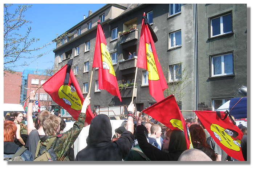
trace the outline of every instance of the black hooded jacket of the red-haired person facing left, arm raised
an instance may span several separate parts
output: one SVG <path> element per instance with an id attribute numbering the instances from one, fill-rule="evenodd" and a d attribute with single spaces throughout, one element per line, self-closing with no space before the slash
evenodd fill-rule
<path id="1" fill-rule="evenodd" d="M 180 154 L 187 149 L 184 132 L 173 130 L 170 137 L 169 153 L 157 149 L 147 142 L 146 134 L 148 133 L 145 126 L 139 125 L 136 128 L 137 140 L 139 147 L 150 158 L 151 161 L 178 161 Z"/>

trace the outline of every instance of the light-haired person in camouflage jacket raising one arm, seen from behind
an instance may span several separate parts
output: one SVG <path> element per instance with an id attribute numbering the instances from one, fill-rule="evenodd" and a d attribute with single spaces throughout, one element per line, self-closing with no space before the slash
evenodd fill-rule
<path id="1" fill-rule="evenodd" d="M 56 139 L 52 143 L 52 147 L 48 150 L 48 153 L 50 154 L 53 161 L 69 161 L 68 158 L 68 150 L 69 147 L 73 145 L 74 141 L 77 139 L 78 135 L 80 134 L 82 128 L 85 126 L 85 118 L 86 118 L 86 109 L 88 105 L 90 104 L 90 97 L 86 97 L 84 100 L 84 103 L 82 105 L 81 113 L 78 116 L 77 121 L 74 123 L 73 127 L 69 129 L 69 131 L 58 134 L 60 130 L 60 118 L 56 115 L 51 115 L 48 118 L 45 118 L 42 122 L 42 126 L 44 128 L 44 132 L 46 134 L 45 137 L 42 137 L 41 139 L 41 146 L 39 149 L 39 154 L 41 155 L 43 150 L 46 149 L 46 145 L 49 142 L 49 139 L 52 137 L 56 137 Z M 55 116 L 55 117 L 54 117 Z M 54 118 L 53 118 L 54 117 Z M 58 127 L 54 127 L 54 134 L 49 134 L 48 130 L 46 129 L 49 126 L 50 121 L 58 121 Z M 87 126 L 88 124 L 86 124 Z M 40 156 L 38 154 L 38 156 Z"/>

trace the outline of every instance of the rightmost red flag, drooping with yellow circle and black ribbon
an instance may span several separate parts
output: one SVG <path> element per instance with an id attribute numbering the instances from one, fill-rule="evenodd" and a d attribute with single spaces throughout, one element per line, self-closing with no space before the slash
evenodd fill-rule
<path id="1" fill-rule="evenodd" d="M 227 115 L 225 112 L 196 110 L 195 113 L 220 148 L 229 156 L 244 161 L 241 152 L 243 132 L 228 117 L 225 117 Z"/>

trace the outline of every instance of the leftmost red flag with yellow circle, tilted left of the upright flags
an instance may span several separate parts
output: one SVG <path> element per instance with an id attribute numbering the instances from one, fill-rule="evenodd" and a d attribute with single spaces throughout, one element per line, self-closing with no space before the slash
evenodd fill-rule
<path id="1" fill-rule="evenodd" d="M 62 106 L 66 111 L 69 112 L 70 115 L 73 116 L 74 119 L 77 120 L 82 109 L 84 97 L 72 69 L 70 69 L 68 84 L 64 84 L 67 69 L 70 69 L 68 64 L 64 65 L 64 67 L 50 77 L 43 84 L 43 88 L 45 92 L 52 97 L 54 102 Z M 88 109 L 86 110 L 85 122 L 90 124 L 93 117 L 94 116 L 89 105 Z"/>

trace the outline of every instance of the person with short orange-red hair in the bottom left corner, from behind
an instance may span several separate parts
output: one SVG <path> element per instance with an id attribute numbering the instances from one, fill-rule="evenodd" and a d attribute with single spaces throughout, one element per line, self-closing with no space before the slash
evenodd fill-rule
<path id="1" fill-rule="evenodd" d="M 4 158 L 11 158 L 20 147 L 14 143 L 17 127 L 14 122 L 6 120 L 4 122 Z M 25 150 L 21 154 L 23 161 L 33 161 L 31 152 Z"/>

